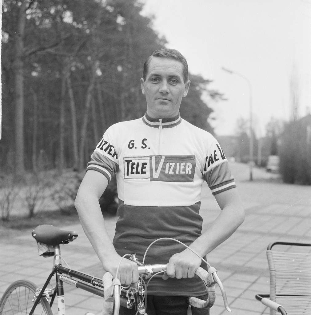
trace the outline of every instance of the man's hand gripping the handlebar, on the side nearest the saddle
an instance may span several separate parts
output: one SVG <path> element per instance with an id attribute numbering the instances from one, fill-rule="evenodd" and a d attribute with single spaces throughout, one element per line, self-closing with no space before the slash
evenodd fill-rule
<path id="1" fill-rule="evenodd" d="M 138 281 L 138 268 L 134 261 L 130 261 L 127 258 L 121 258 L 116 255 L 112 259 L 109 259 L 103 264 L 104 270 L 109 271 L 113 277 L 116 276 L 118 264 L 121 261 L 117 278 L 120 280 L 121 285 L 128 286 L 133 282 Z"/>

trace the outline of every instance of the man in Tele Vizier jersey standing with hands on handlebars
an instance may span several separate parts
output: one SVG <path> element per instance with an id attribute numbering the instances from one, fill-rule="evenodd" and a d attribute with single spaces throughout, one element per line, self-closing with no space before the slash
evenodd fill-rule
<path id="1" fill-rule="evenodd" d="M 112 275 L 121 256 L 136 253 L 141 259 L 147 246 L 160 237 L 175 238 L 205 256 L 244 220 L 221 146 L 210 133 L 180 117 L 181 100 L 189 86 L 187 61 L 182 54 L 175 49 L 153 52 L 141 78 L 146 114 L 108 128 L 88 163 L 75 205 L 103 269 Z M 112 242 L 98 199 L 114 174 L 119 218 Z M 201 235 L 199 208 L 204 180 L 222 211 Z M 187 297 L 202 298 L 205 292 L 202 281 L 194 277 L 201 260 L 172 241 L 155 243 L 146 263 L 148 257 L 153 263 L 169 262 L 163 279 L 153 279 L 148 286 L 148 314 L 186 314 Z M 118 277 L 124 285 L 138 281 L 136 263 L 123 259 Z M 133 311 L 122 308 L 120 314 Z M 192 314 L 209 312 L 193 308 Z"/>

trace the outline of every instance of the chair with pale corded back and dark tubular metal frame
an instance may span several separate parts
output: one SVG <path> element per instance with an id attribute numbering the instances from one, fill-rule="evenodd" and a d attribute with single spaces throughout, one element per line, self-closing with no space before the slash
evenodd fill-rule
<path id="1" fill-rule="evenodd" d="M 256 299 L 270 308 L 270 315 L 311 315 L 311 244 L 271 243 L 267 258 L 270 294 Z"/>

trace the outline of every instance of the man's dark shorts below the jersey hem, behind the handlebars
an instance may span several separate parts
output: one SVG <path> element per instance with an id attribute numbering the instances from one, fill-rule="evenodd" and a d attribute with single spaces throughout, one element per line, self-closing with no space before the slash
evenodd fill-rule
<path id="1" fill-rule="evenodd" d="M 206 300 L 207 295 L 198 296 L 198 298 Z M 187 315 L 188 306 L 187 297 L 185 296 L 147 295 L 146 313 L 148 315 Z M 210 315 L 210 309 L 191 306 L 190 314 Z M 120 306 L 119 315 L 135 315 L 135 308 L 129 310 Z"/>

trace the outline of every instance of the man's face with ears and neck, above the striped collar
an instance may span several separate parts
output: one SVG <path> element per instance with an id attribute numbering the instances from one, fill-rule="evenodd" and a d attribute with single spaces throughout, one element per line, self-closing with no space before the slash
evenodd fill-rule
<path id="1" fill-rule="evenodd" d="M 181 99 L 190 85 L 190 81 L 184 82 L 182 70 L 178 60 L 152 57 L 146 80 L 141 78 L 141 92 L 146 95 L 150 117 L 170 118 L 178 114 Z"/>

